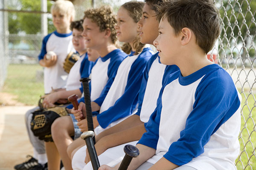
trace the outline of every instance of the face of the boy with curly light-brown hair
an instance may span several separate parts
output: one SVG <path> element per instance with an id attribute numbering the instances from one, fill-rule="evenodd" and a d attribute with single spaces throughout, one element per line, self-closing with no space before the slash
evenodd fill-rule
<path id="1" fill-rule="evenodd" d="M 104 41 L 105 31 L 101 32 L 99 26 L 89 18 L 84 19 L 83 28 L 82 36 L 85 39 L 86 48 L 98 49 L 97 47 Z"/>

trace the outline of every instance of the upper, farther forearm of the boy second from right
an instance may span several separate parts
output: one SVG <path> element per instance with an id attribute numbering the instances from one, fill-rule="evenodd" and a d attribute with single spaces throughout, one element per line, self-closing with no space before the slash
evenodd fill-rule
<path id="1" fill-rule="evenodd" d="M 107 130 L 104 130 L 102 133 L 99 133 L 99 135 L 96 137 L 96 139 L 99 140 L 104 136 L 108 136 L 110 134 L 129 129 L 131 127 L 135 127 L 140 124 L 144 124 L 143 122 L 140 121 L 140 116 L 132 115 L 132 116 L 128 117 L 127 119 L 125 119 L 124 121 L 118 123 L 117 125 L 109 128 Z"/>

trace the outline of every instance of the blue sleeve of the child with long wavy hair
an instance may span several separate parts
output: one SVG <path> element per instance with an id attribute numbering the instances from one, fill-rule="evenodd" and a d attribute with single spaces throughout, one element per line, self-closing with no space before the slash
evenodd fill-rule
<path id="1" fill-rule="evenodd" d="M 138 102 L 143 71 L 149 58 L 150 56 L 138 58 L 131 65 L 124 94 L 107 111 L 97 115 L 97 120 L 101 127 L 105 128 L 111 122 L 132 113 Z"/>

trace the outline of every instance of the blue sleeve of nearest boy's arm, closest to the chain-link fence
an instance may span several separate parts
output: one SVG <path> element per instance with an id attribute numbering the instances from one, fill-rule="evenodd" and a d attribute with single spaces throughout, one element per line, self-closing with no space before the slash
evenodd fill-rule
<path id="1" fill-rule="evenodd" d="M 222 77 L 220 79 L 219 77 Z M 164 157 L 179 166 L 204 153 L 204 145 L 240 106 L 239 94 L 231 77 L 224 73 L 199 83 L 193 110 L 186 120 L 180 139 L 173 142 Z M 196 133 L 195 133 L 196 132 Z"/>

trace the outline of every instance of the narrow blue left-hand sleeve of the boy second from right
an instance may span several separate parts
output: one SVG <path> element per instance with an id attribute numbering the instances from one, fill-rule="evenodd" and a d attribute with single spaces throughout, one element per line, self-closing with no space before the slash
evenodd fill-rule
<path id="1" fill-rule="evenodd" d="M 139 98 L 138 98 L 138 103 L 139 103 L 138 111 L 135 113 L 138 116 L 140 116 L 140 111 L 141 111 L 141 107 L 142 107 L 142 103 L 143 103 L 143 99 L 144 99 L 144 95 L 145 95 L 145 90 L 146 90 L 147 83 L 148 83 L 148 73 L 149 73 L 151 65 L 154 62 L 154 60 L 156 59 L 156 57 L 157 57 L 156 54 L 153 54 L 151 56 L 151 58 L 147 62 L 145 71 L 143 72 L 143 77 L 142 77 L 142 81 L 141 81 L 141 85 L 140 85 Z"/>

